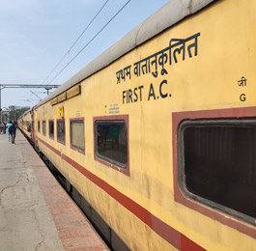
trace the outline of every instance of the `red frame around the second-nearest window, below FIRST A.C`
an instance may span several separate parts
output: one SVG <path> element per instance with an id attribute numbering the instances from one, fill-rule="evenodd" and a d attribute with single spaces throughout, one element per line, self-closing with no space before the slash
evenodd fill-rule
<path id="1" fill-rule="evenodd" d="M 123 168 L 119 165 L 117 165 L 117 161 L 109 161 L 111 159 L 107 159 L 107 157 L 100 157 L 100 155 L 97 153 L 97 123 L 98 122 L 123 122 L 127 126 L 127 140 L 128 140 L 128 163 L 126 168 Z M 128 115 L 114 115 L 114 116 L 100 116 L 100 117 L 94 117 L 94 156 L 95 160 L 100 162 L 101 164 L 111 167 L 114 170 L 117 170 L 127 176 L 129 176 L 129 133 L 128 133 Z"/>

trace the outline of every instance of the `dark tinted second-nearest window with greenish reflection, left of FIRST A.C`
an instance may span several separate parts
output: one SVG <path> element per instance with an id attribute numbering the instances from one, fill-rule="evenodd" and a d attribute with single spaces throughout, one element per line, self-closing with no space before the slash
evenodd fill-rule
<path id="1" fill-rule="evenodd" d="M 128 166 L 128 133 L 124 121 L 97 121 L 95 146 L 98 157 L 122 168 Z"/>

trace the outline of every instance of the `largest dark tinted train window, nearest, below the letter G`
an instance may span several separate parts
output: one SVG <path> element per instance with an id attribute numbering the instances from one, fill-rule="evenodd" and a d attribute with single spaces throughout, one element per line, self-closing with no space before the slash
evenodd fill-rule
<path id="1" fill-rule="evenodd" d="M 185 192 L 213 208 L 255 218 L 256 122 L 185 122 L 179 137 Z"/>

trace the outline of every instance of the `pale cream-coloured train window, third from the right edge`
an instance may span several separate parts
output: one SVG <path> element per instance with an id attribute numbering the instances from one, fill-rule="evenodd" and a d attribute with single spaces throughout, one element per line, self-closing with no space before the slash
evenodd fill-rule
<path id="1" fill-rule="evenodd" d="M 84 151 L 84 122 L 71 120 L 71 147 Z"/>

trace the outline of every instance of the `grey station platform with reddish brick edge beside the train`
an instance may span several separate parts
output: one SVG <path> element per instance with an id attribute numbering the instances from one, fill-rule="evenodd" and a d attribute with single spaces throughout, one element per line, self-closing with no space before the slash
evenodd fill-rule
<path id="1" fill-rule="evenodd" d="M 15 250 L 109 250 L 19 130 L 0 134 L 0 251 Z"/>

